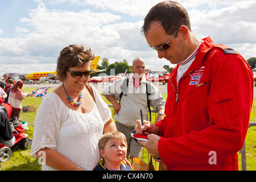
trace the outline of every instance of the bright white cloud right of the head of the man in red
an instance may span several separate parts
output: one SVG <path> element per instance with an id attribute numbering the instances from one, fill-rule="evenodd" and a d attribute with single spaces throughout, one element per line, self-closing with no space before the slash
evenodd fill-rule
<path id="1" fill-rule="evenodd" d="M 197 5 L 196 7 L 187 3 L 194 34 L 199 38 L 210 36 L 214 43 L 226 44 L 236 49 L 245 59 L 255 57 L 255 49 L 243 48 L 245 45 L 252 46 L 256 42 L 256 36 L 254 36 L 256 19 L 253 16 L 256 9 L 255 1 L 218 0 L 214 2 L 216 3 L 212 8 L 213 6 L 210 5 L 213 5 L 213 1 L 209 1 L 210 10 L 196 8 L 206 1 L 196 0 L 194 4 Z"/>

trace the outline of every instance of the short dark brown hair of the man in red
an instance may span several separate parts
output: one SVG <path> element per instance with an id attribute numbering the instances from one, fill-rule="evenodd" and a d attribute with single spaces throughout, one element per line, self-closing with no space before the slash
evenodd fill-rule
<path id="1" fill-rule="evenodd" d="M 191 31 L 188 13 L 180 3 L 175 1 L 160 2 L 152 7 L 144 18 L 142 32 L 147 34 L 152 22 L 160 22 L 166 34 L 173 35 L 183 19 L 183 24 Z"/>

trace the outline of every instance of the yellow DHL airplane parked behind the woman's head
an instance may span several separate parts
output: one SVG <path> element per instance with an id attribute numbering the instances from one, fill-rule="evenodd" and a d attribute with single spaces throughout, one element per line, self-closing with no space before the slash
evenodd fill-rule
<path id="1" fill-rule="evenodd" d="M 100 71 L 97 69 L 98 60 L 100 60 L 100 56 L 95 57 L 92 60 L 92 65 L 90 66 L 90 69 L 92 69 L 92 73 Z M 22 74 L 20 74 L 19 78 L 22 78 Z M 26 76 L 23 76 L 27 80 L 34 80 L 34 81 L 47 81 L 47 80 L 57 80 L 57 72 L 35 72 L 35 73 L 29 73 Z"/>

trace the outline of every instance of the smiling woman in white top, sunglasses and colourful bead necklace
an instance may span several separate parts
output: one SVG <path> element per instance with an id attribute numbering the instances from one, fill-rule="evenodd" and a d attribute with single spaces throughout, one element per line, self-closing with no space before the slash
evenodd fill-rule
<path id="1" fill-rule="evenodd" d="M 93 59 L 83 46 L 60 52 L 56 71 L 63 84 L 47 94 L 35 118 L 31 156 L 42 160 L 42 170 L 93 170 L 101 159 L 98 140 L 116 130 L 108 105 L 86 85 Z"/>

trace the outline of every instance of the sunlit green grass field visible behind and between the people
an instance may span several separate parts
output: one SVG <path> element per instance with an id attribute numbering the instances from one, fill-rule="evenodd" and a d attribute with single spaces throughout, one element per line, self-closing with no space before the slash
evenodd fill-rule
<path id="1" fill-rule="evenodd" d="M 23 88 L 24 92 L 31 92 L 31 90 L 35 90 L 35 88 Z M 49 89 L 49 92 L 51 92 L 52 89 Z M 167 94 L 163 94 L 163 97 L 166 98 Z M 110 104 L 105 97 L 102 97 L 104 101 L 107 104 Z M 38 103 L 40 103 L 40 98 L 35 98 L 33 103 L 29 102 L 29 99 L 25 98 L 23 100 L 22 105 L 28 106 L 28 105 L 34 105 L 36 108 L 38 108 Z M 29 123 L 34 123 L 33 119 L 35 113 L 22 113 L 21 119 L 23 121 L 27 121 Z M 155 120 L 155 114 L 152 114 L 152 121 Z M 251 117 L 250 122 L 256 121 L 256 99 L 253 102 L 253 108 L 251 110 Z M 28 138 L 32 138 L 33 135 L 33 127 L 28 126 L 29 129 L 25 132 L 28 134 Z M 251 127 L 246 135 L 246 159 L 247 159 L 247 171 L 255 171 L 256 170 L 256 127 Z M 143 156 L 144 161 L 149 160 L 149 156 L 147 154 L 147 150 L 143 149 Z M 241 167 L 241 155 L 238 152 L 238 159 L 239 159 L 239 169 L 242 170 Z M 155 164 L 155 169 L 158 169 L 158 163 Z M 5 162 L 1 163 L 1 170 L 2 171 L 40 171 L 41 166 L 38 164 L 37 158 L 31 158 L 30 157 L 30 149 L 28 150 L 17 150 L 14 151 L 11 155 L 11 158 Z"/>

